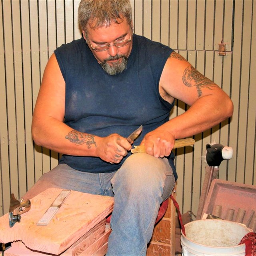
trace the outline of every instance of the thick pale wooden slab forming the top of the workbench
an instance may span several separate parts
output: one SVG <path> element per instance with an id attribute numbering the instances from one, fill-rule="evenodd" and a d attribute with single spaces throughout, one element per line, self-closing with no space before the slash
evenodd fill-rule
<path id="1" fill-rule="evenodd" d="M 9 227 L 8 214 L 2 216 L 0 242 L 20 240 L 31 250 L 58 255 L 112 212 L 114 198 L 71 191 L 50 223 L 37 226 L 38 220 L 61 191 L 49 188 L 32 198 L 32 208 L 22 214 L 21 222 L 12 228 Z"/>

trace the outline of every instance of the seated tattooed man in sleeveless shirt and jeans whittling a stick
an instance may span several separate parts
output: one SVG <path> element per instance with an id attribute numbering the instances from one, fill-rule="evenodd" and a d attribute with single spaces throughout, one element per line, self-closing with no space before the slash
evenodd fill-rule
<path id="1" fill-rule="evenodd" d="M 31 196 L 54 186 L 114 196 L 110 256 L 146 255 L 177 179 L 174 140 L 230 117 L 230 98 L 172 49 L 133 34 L 129 0 L 82 0 L 83 37 L 54 51 L 34 110 L 36 144 L 63 154 Z M 190 106 L 169 120 L 174 99 Z M 130 154 L 126 137 L 143 125 Z"/>

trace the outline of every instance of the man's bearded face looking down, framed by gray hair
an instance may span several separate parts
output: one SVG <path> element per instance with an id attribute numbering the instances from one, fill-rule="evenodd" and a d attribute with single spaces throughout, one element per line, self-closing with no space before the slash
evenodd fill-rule
<path id="1" fill-rule="evenodd" d="M 90 28 L 86 34 L 83 31 L 84 39 L 102 68 L 110 75 L 121 73 L 126 68 L 127 58 L 132 50 L 132 30 L 125 19 L 120 19 L 119 24 L 113 23 L 110 26 Z M 87 36 L 87 37 L 86 37 Z M 126 46 L 117 48 L 110 46 L 108 50 L 97 52 L 94 47 L 106 44 L 113 45 L 123 40 L 130 39 Z"/>

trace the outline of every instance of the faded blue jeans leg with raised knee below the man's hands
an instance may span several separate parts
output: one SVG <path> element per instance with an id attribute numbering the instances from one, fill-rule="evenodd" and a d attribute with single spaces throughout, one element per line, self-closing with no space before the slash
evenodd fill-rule
<path id="1" fill-rule="evenodd" d="M 168 160 L 133 154 L 111 182 L 115 203 L 107 256 L 144 256 L 159 206 L 174 188 Z"/>

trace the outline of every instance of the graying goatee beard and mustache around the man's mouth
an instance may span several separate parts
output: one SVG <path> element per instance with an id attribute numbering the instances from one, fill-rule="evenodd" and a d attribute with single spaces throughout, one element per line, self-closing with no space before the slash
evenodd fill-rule
<path id="1" fill-rule="evenodd" d="M 121 62 L 113 62 L 111 64 L 108 64 L 108 61 L 110 60 L 118 60 L 121 58 Z M 128 58 L 124 55 L 116 55 L 116 56 L 110 56 L 107 59 L 104 60 L 104 62 L 100 63 L 100 66 L 102 66 L 103 70 L 109 74 L 110 76 L 122 73 L 126 67 L 127 67 Z"/>

